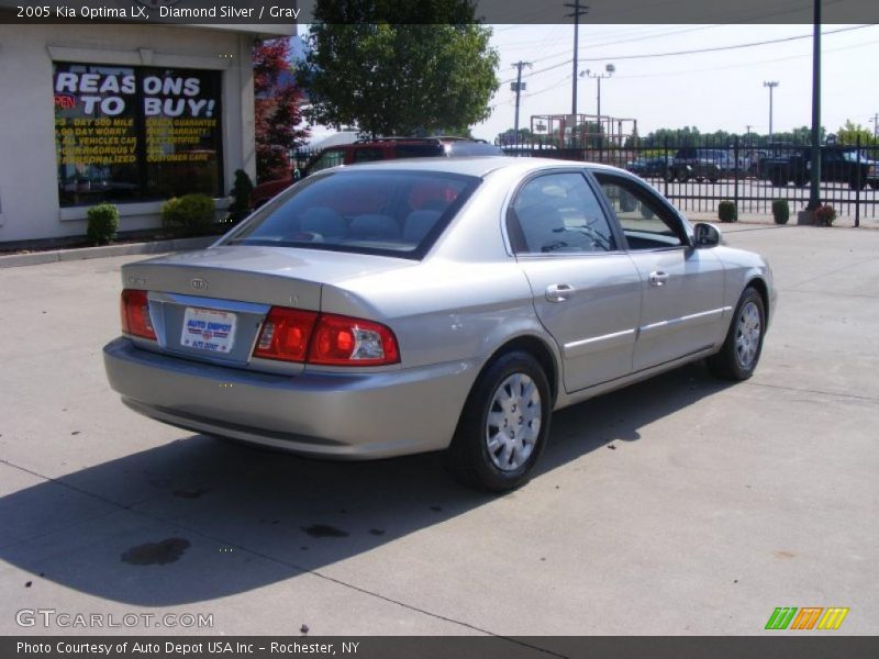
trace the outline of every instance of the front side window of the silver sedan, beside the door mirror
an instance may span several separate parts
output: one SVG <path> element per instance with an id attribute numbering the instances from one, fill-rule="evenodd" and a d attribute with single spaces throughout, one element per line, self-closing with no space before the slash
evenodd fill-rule
<path id="1" fill-rule="evenodd" d="M 652 190 L 623 177 L 593 172 L 623 228 L 628 248 L 661 249 L 689 244 L 680 219 Z"/>

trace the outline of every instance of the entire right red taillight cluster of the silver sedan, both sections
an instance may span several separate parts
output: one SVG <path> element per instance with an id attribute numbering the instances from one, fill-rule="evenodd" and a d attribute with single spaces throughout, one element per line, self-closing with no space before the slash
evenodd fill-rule
<path id="1" fill-rule="evenodd" d="M 400 361 L 397 338 L 379 323 L 272 306 L 254 357 L 320 366 L 383 366 Z"/>

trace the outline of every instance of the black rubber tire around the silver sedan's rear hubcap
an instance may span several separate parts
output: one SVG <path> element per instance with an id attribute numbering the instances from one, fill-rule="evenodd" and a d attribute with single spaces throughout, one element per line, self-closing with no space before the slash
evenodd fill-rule
<path id="1" fill-rule="evenodd" d="M 508 462 L 512 465 L 502 469 L 499 467 L 499 462 L 503 461 L 503 447 L 499 444 L 498 450 L 493 453 L 489 448 L 491 428 L 499 431 L 494 435 L 497 438 L 501 436 L 501 427 L 490 424 L 489 414 L 500 414 L 504 420 L 511 414 L 518 416 L 519 425 L 515 431 L 521 428 L 521 432 L 525 434 L 530 434 L 533 427 L 533 421 L 523 423 L 525 414 L 522 413 L 521 407 L 512 405 L 503 409 L 497 399 L 502 390 L 510 392 L 510 388 L 515 387 L 515 384 L 511 384 L 511 379 L 515 382 L 516 376 L 520 378 L 524 376 L 530 380 L 530 383 L 525 383 L 526 389 L 520 389 L 520 391 L 531 391 L 530 386 L 534 386 L 538 396 L 536 402 L 539 407 L 538 428 L 536 436 L 530 438 L 532 439 L 530 442 L 522 442 L 521 437 L 525 435 L 520 435 L 519 442 L 523 445 L 522 450 L 524 451 L 524 454 L 519 454 L 519 457 L 522 458 L 521 463 L 514 463 L 516 455 L 513 451 Z M 519 382 L 525 381 L 520 379 Z M 536 412 L 533 393 L 530 394 L 530 402 L 527 409 Z M 501 355 L 486 367 L 470 390 L 470 395 L 455 431 L 455 437 L 446 454 L 446 465 L 449 471 L 468 485 L 493 492 L 503 492 L 522 485 L 527 481 L 528 472 L 543 453 L 549 433 L 552 409 L 549 383 L 537 360 L 530 354 L 519 350 Z"/>

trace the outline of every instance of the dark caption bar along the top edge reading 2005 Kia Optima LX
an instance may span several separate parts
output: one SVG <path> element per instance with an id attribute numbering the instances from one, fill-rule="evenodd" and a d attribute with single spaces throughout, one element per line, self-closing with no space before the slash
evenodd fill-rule
<path id="1" fill-rule="evenodd" d="M 377 0 L 352 22 L 415 23 L 433 0 Z M 439 0 L 436 0 L 439 1 Z M 487 24 L 571 23 L 569 0 L 458 0 Z M 814 0 L 580 0 L 581 23 L 791 24 L 812 22 Z M 821 0 L 826 24 L 879 23 L 877 0 Z M 344 16 L 345 0 L 336 15 Z M 84 8 L 87 11 L 84 13 Z M 164 8 L 164 9 L 163 9 Z M 314 0 L 0 0 L 0 23 L 308 24 Z M 124 11 L 125 15 L 120 15 Z M 291 18 L 294 14 L 296 18 Z M 435 19 L 425 22 L 434 22 Z"/>

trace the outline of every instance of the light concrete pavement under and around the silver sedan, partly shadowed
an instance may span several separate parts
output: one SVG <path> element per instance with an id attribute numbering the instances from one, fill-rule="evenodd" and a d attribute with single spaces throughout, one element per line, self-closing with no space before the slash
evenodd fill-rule
<path id="1" fill-rule="evenodd" d="M 879 232 L 722 228 L 781 293 L 755 377 L 691 366 L 565 410 L 500 498 L 436 455 L 322 462 L 142 418 L 101 364 L 140 257 L 1 271 L 0 634 L 753 635 L 776 606 L 876 634 Z M 20 626 L 38 608 L 178 622 Z"/>

